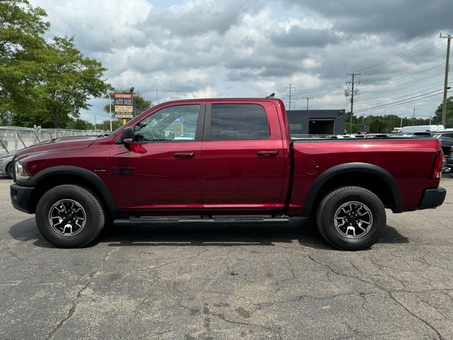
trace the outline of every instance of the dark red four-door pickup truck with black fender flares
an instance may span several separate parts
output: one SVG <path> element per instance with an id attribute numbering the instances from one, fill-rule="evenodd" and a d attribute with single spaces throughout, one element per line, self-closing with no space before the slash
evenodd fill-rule
<path id="1" fill-rule="evenodd" d="M 435 208 L 446 194 L 438 140 L 292 140 L 272 98 L 162 103 L 110 135 L 23 149 L 14 169 L 13 206 L 35 213 L 42 236 L 62 247 L 89 244 L 108 223 L 162 222 L 155 216 L 313 215 L 331 245 L 365 249 L 384 230 L 384 208 Z"/>

